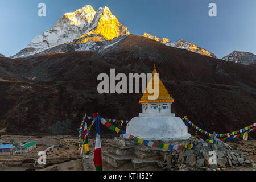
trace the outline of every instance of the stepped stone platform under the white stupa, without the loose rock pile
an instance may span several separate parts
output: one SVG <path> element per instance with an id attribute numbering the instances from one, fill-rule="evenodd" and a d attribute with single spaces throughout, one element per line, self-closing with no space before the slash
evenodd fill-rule
<path id="1" fill-rule="evenodd" d="M 195 142 L 195 137 L 171 141 L 152 141 L 163 144 L 189 144 Z M 114 143 L 107 146 L 108 151 L 102 151 L 102 159 L 113 167 L 122 166 L 122 164 L 132 163 L 134 169 L 144 166 L 158 166 L 163 168 L 164 160 L 167 156 L 177 155 L 178 151 L 164 150 L 156 147 L 148 147 L 139 144 L 130 139 L 115 137 Z"/>

